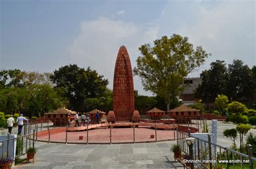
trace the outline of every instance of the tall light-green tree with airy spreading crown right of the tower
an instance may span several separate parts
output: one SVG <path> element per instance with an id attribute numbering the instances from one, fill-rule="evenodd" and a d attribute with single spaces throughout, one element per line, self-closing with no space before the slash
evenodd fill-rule
<path id="1" fill-rule="evenodd" d="M 173 34 L 154 41 L 154 46 L 145 44 L 139 47 L 142 56 L 138 57 L 135 75 L 142 78 L 145 90 L 164 98 L 167 110 L 173 98 L 183 90 L 181 83 L 188 73 L 205 62 L 207 54 L 203 47 L 194 50 L 187 37 Z"/>

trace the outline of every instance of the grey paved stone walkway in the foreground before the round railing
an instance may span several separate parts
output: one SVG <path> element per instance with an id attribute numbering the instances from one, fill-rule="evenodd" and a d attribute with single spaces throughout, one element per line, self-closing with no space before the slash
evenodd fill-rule
<path id="1" fill-rule="evenodd" d="M 180 163 L 174 163 L 170 152 L 175 143 L 85 145 L 37 142 L 35 163 L 23 163 L 13 168 L 183 168 Z"/>

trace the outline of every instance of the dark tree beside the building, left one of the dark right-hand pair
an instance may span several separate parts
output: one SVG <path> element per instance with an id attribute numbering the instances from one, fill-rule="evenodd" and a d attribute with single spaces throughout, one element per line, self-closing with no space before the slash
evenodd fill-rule
<path id="1" fill-rule="evenodd" d="M 216 60 L 211 68 L 200 74 L 201 84 L 196 90 L 196 97 L 205 103 L 213 103 L 220 94 L 226 94 L 228 73 L 225 61 Z"/>

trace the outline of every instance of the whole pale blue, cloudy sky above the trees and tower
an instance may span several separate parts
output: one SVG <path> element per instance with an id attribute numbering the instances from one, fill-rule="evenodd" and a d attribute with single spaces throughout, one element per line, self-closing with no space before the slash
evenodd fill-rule
<path id="1" fill-rule="evenodd" d="M 0 69 L 52 72 L 77 64 L 113 85 L 114 62 L 125 45 L 136 66 L 138 47 L 173 33 L 203 46 L 212 61 L 248 66 L 255 59 L 255 1 L 3 1 Z M 143 90 L 138 77 L 134 88 Z"/>

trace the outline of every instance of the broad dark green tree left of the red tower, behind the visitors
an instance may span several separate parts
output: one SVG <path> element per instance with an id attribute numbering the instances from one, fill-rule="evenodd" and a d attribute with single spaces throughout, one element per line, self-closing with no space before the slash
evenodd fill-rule
<path id="1" fill-rule="evenodd" d="M 64 91 L 64 97 L 69 100 L 69 108 L 75 111 L 86 110 L 86 98 L 97 98 L 104 94 L 107 84 L 103 75 L 99 75 L 88 67 L 79 68 L 77 65 L 60 67 L 53 72 L 50 79 L 58 91 Z"/>

